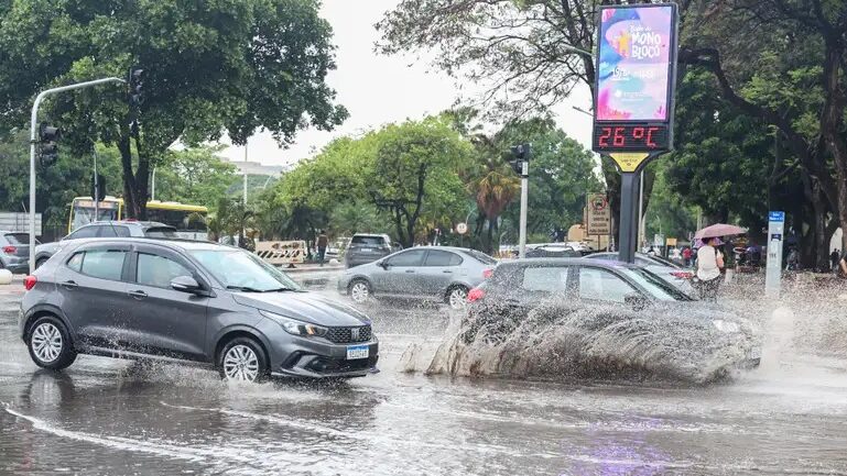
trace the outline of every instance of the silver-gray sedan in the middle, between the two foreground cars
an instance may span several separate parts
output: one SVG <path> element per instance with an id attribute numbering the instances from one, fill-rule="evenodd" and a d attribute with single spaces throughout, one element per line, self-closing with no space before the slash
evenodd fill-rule
<path id="1" fill-rule="evenodd" d="M 348 269 L 338 291 L 354 302 L 370 297 L 422 299 L 464 309 L 468 290 L 482 283 L 497 261 L 476 250 L 421 246 Z"/>

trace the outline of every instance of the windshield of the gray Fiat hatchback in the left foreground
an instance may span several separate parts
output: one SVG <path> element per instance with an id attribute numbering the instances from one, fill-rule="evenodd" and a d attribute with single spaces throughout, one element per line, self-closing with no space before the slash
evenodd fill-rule
<path id="1" fill-rule="evenodd" d="M 300 290 L 279 269 L 241 250 L 194 250 L 189 252 L 224 287 L 250 292 Z"/>

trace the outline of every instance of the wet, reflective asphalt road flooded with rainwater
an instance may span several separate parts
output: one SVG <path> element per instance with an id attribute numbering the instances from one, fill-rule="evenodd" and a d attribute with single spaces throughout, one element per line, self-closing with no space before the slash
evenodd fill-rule
<path id="1" fill-rule="evenodd" d="M 15 334 L 19 297 L 0 287 L 1 475 L 847 474 L 840 361 L 695 388 L 427 377 L 398 361 L 448 312 L 388 303 L 367 309 L 382 372 L 347 384 L 89 356 L 50 373 Z"/>

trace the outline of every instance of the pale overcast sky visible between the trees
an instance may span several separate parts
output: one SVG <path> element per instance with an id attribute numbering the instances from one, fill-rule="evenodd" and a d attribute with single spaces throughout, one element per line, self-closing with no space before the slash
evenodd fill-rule
<path id="1" fill-rule="evenodd" d="M 382 14 L 400 0 L 324 0 L 322 15 L 333 25 L 338 68 L 328 84 L 338 92 L 338 102 L 350 117 L 332 132 L 305 130 L 294 145 L 280 148 L 270 134 L 257 134 L 248 143 L 250 160 L 265 165 L 293 164 L 311 157 L 335 137 L 359 134 L 382 124 L 421 119 L 453 106 L 459 85 L 426 62 L 410 56 L 383 56 L 373 53 L 379 34 L 373 27 Z M 428 71 L 428 73 L 427 73 Z M 480 89 L 460 85 L 464 95 Z M 554 109 L 558 125 L 572 137 L 590 147 L 591 120 L 574 111 L 573 106 L 590 108 L 588 88 L 578 88 L 567 103 Z M 228 147 L 224 155 L 245 159 L 243 147 Z"/>

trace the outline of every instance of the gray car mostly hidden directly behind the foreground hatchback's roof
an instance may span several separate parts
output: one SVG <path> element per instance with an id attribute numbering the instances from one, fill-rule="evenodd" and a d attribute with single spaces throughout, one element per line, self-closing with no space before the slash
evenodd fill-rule
<path id="1" fill-rule="evenodd" d="M 74 230 L 73 233 L 55 243 L 44 243 L 43 245 L 35 246 L 35 269 L 40 268 L 44 263 L 46 263 L 51 256 L 53 256 L 62 248 L 62 246 L 70 243 L 74 240 L 130 236 L 148 236 L 161 239 L 178 237 L 175 228 L 154 221 L 121 220 L 88 223 L 86 225 L 79 226 L 78 229 Z"/>

